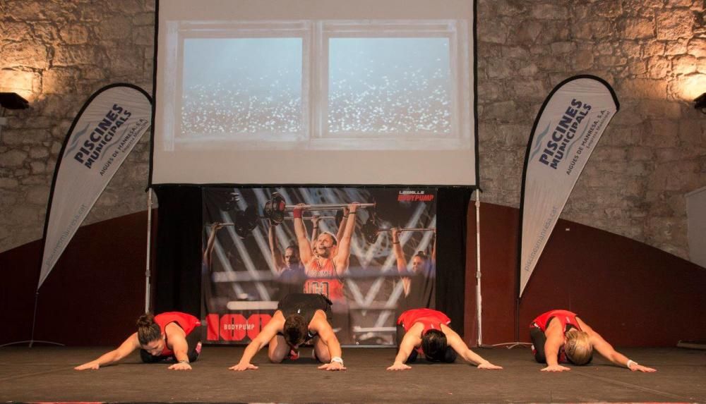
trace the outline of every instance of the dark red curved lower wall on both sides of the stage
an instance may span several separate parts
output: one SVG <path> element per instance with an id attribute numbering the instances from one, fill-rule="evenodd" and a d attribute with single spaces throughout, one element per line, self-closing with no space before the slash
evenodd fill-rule
<path id="1" fill-rule="evenodd" d="M 517 209 L 481 204 L 484 345 L 516 341 L 517 220 Z M 36 340 L 114 345 L 134 329 L 137 314 L 144 310 L 146 226 L 147 212 L 141 212 L 80 228 L 40 289 Z M 467 243 L 464 331 L 465 339 L 474 342 L 472 205 Z M 30 338 L 40 254 L 39 241 L 0 253 L 0 345 Z M 679 340 L 706 339 L 705 286 L 702 267 L 560 220 L 520 302 L 520 341 L 529 341 L 530 320 L 552 308 L 578 312 L 619 346 L 674 346 Z"/>

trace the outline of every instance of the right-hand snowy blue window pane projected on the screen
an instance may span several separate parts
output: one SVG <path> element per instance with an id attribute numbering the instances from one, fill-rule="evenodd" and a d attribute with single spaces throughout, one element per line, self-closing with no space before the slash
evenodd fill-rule
<path id="1" fill-rule="evenodd" d="M 329 41 L 328 132 L 449 135 L 446 38 Z"/>

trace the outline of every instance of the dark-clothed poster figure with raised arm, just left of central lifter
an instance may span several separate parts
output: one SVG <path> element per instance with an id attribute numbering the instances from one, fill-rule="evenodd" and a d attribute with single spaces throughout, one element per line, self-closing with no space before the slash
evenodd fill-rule
<path id="1" fill-rule="evenodd" d="M 279 286 L 277 294 L 283 298 L 289 293 L 301 292 L 302 288 L 304 288 L 306 274 L 304 273 L 301 259 L 299 259 L 299 246 L 295 243 L 290 244 L 285 248 L 285 253 L 282 255 L 277 244 L 275 226 L 271 223 L 268 239 L 270 241 L 270 255 L 277 270 L 277 284 Z"/>

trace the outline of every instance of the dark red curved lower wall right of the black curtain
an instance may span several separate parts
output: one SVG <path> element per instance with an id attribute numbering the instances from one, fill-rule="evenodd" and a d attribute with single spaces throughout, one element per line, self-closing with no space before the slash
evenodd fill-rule
<path id="1" fill-rule="evenodd" d="M 515 338 L 519 211 L 481 204 L 482 343 Z M 465 336 L 477 341 L 475 208 L 469 207 Z M 559 220 L 519 305 L 530 321 L 564 308 L 619 346 L 706 339 L 706 269 L 635 240 Z"/>

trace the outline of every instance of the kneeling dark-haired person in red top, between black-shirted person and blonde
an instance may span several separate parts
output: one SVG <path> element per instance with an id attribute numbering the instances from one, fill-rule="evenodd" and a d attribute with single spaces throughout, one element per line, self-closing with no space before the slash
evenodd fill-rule
<path id="1" fill-rule="evenodd" d="M 437 310 L 422 308 L 402 313 L 397 319 L 397 336 L 404 336 L 399 343 L 395 362 L 388 370 L 412 369 L 406 363 L 415 362 L 418 355 L 424 355 L 429 362 L 445 363 L 455 362 L 456 357 L 460 355 L 478 369 L 503 369 L 470 350 L 461 337 L 448 326 L 450 322 L 446 314 Z"/>

